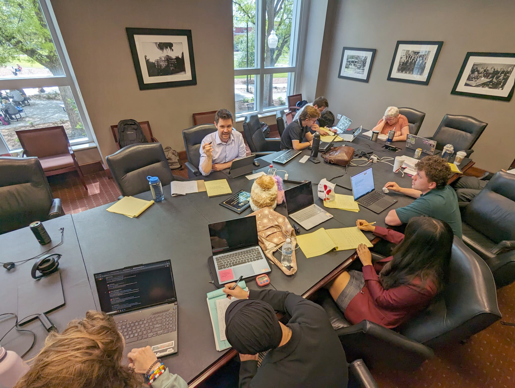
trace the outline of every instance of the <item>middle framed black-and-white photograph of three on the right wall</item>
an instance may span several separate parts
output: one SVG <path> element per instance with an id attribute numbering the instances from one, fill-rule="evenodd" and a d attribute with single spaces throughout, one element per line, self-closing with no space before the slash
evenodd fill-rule
<path id="1" fill-rule="evenodd" d="M 389 81 L 429 85 L 443 42 L 397 41 Z"/>

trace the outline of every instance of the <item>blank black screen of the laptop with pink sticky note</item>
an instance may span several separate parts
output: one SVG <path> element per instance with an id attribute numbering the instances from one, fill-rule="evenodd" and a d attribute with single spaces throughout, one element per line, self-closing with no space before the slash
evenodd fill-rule
<path id="1" fill-rule="evenodd" d="M 209 224 L 209 238 L 213 255 L 256 246 L 259 244 L 256 216 Z"/>

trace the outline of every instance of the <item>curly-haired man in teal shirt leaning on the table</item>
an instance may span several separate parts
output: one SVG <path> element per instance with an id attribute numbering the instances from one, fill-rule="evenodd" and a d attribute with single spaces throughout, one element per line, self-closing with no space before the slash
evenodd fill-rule
<path id="1" fill-rule="evenodd" d="M 402 208 L 390 210 L 385 223 L 396 226 L 407 224 L 411 217 L 428 215 L 447 222 L 454 235 L 461 238 L 461 214 L 456 192 L 447 184 L 451 167 L 439 156 L 426 156 L 415 165 L 417 174 L 411 178 L 411 189 L 388 182 L 385 188 L 417 198 Z"/>

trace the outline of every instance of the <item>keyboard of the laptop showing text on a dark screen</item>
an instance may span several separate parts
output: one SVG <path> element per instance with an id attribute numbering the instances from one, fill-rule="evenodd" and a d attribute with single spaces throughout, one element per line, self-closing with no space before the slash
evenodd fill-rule
<path id="1" fill-rule="evenodd" d="M 116 322 L 118 330 L 123 334 L 125 343 L 146 340 L 157 335 L 177 331 L 177 306 L 168 312 L 158 313 L 149 317 Z"/>

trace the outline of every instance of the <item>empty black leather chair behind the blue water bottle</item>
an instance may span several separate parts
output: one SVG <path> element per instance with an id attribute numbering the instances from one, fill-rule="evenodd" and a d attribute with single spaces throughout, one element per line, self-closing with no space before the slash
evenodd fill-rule
<path id="1" fill-rule="evenodd" d="M 107 165 L 124 196 L 150 190 L 147 176 L 157 176 L 163 186 L 179 177 L 171 175 L 161 143 L 131 144 L 106 157 Z"/>

